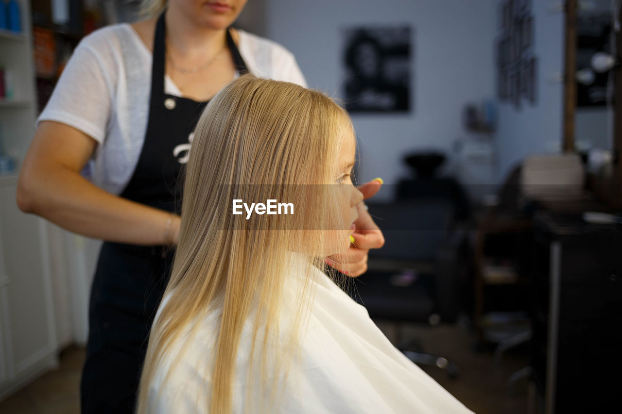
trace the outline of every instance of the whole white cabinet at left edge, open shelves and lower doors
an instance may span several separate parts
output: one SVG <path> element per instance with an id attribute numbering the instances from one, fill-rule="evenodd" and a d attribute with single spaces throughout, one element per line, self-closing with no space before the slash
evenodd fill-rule
<path id="1" fill-rule="evenodd" d="M 35 131 L 35 75 L 29 1 L 18 0 L 21 34 L 0 31 L 0 66 L 13 96 L 0 99 L 4 151 L 19 168 Z M 0 400 L 55 366 L 48 224 L 17 208 L 17 172 L 0 175 Z"/>

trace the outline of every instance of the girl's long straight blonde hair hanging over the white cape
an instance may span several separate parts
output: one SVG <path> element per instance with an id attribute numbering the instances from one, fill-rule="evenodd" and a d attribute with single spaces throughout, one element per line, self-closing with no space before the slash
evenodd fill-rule
<path id="1" fill-rule="evenodd" d="M 197 334 L 195 321 L 210 315 L 218 316 L 220 328 L 214 348 L 205 350 L 212 352 L 213 365 L 200 367 L 211 370 L 205 375 L 211 377 L 211 391 L 206 390 L 203 404 L 212 413 L 231 412 L 238 345 L 244 323 L 254 318 L 250 359 L 261 348 L 261 379 L 257 384 L 248 375 L 248 390 L 259 395 L 269 390 L 267 403 L 253 401 L 253 408 L 272 411 L 304 326 L 312 266 L 325 266 L 321 257 L 328 238 L 320 230 L 338 228 L 337 203 L 327 202 L 333 199 L 323 192 L 335 186 L 314 184 L 335 180 L 342 137 L 352 131 L 350 118 L 332 99 L 294 83 L 243 75 L 211 99 L 190 150 L 180 239 L 164 293 L 167 301 L 151 329 L 138 413 L 149 410 L 149 387 L 158 364 L 173 353 L 174 367 L 181 355 L 172 351 L 175 341 L 188 330 Z M 230 211 L 233 199 L 263 202 L 267 194 L 292 202 L 297 214 L 245 219 Z M 340 237 L 347 239 L 347 234 Z M 310 265 L 299 297 L 287 302 L 295 303 L 287 308 L 294 316 L 282 326 L 279 315 L 290 277 L 284 252 L 290 251 L 304 252 Z M 281 344 L 273 350 L 279 354 L 269 354 L 266 343 Z M 248 392 L 247 409 L 250 396 Z"/>

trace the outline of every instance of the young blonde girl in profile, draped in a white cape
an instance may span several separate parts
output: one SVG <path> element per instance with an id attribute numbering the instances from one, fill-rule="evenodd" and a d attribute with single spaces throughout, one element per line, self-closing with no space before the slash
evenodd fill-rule
<path id="1" fill-rule="evenodd" d="M 324 272 L 363 198 L 355 142 L 343 109 L 293 83 L 244 75 L 210 101 L 139 414 L 470 412 Z M 253 208 L 267 200 L 292 208 Z"/>

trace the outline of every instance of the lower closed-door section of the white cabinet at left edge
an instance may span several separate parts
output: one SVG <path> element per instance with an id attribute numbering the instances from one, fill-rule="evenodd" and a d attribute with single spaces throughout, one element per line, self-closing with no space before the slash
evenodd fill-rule
<path id="1" fill-rule="evenodd" d="M 58 363 L 47 224 L 19 211 L 16 190 L 0 176 L 0 399 Z"/>

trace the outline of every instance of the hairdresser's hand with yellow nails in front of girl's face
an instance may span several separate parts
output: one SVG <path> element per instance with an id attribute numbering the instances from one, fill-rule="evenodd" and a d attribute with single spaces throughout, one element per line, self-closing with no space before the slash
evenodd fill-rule
<path id="1" fill-rule="evenodd" d="M 363 193 L 363 200 L 366 200 L 378 193 L 382 185 L 382 180 L 376 178 L 358 186 L 358 190 Z M 350 244 L 350 249 L 344 253 L 329 256 L 326 261 L 328 265 L 351 277 L 364 274 L 367 271 L 369 249 L 379 249 L 384 244 L 383 232 L 376 226 L 362 201 L 356 205 L 356 212 L 358 219 L 355 221 L 356 231 L 352 234 L 354 242 Z M 343 263 L 343 267 L 338 263 Z"/>

